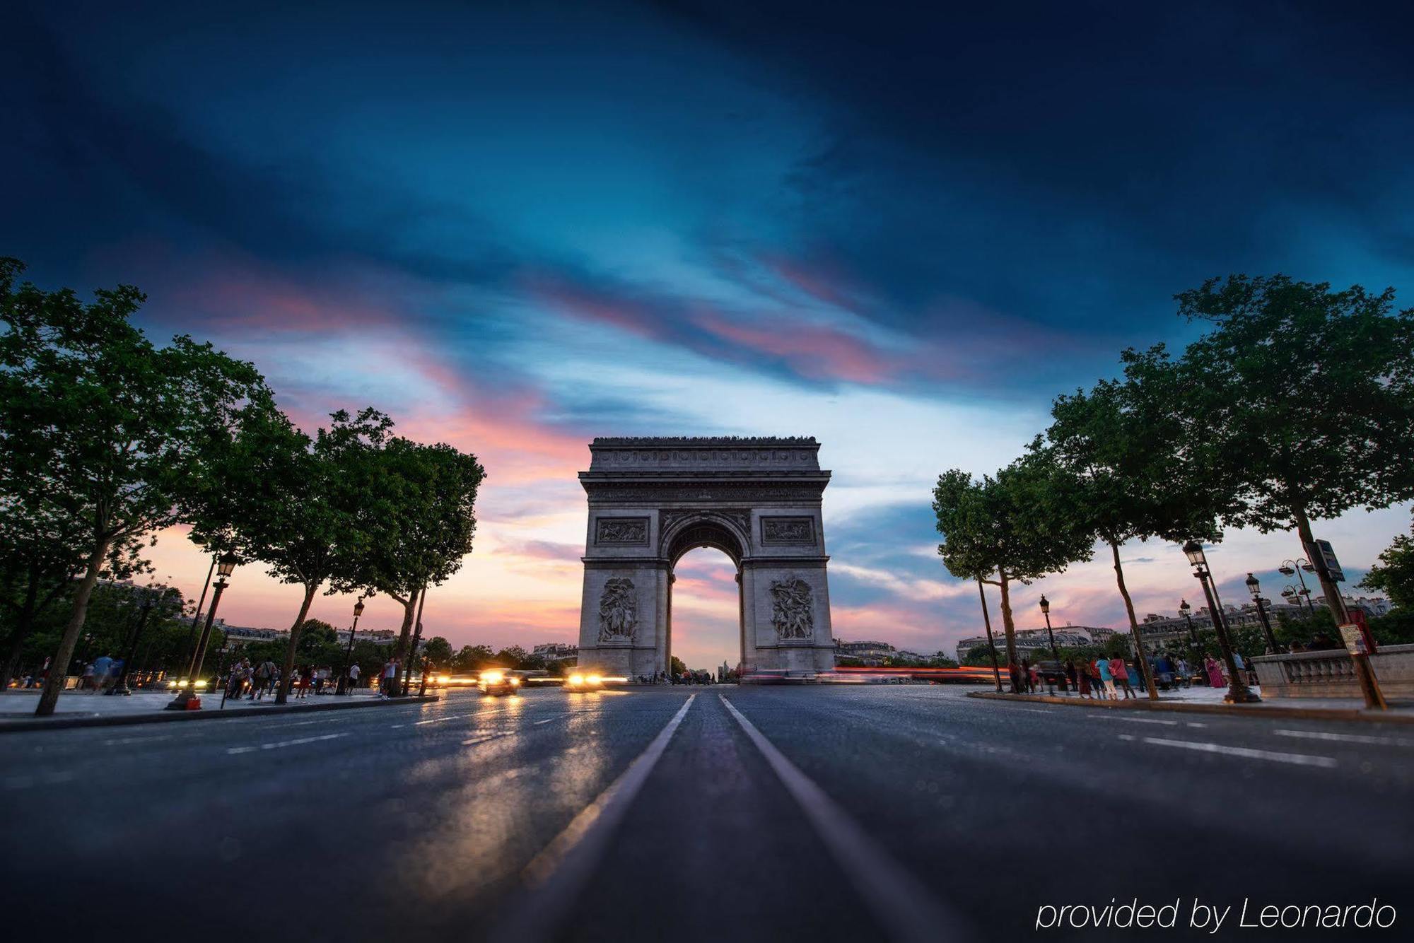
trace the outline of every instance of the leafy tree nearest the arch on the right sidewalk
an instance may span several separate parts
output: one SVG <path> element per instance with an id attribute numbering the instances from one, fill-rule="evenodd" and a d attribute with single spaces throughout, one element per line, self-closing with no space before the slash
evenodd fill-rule
<path id="1" fill-rule="evenodd" d="M 1093 553 L 1090 536 L 1069 516 L 1070 500 L 1062 469 L 1039 448 L 995 476 L 976 481 L 954 468 L 937 478 L 933 513 L 943 536 L 937 553 L 954 577 L 984 577 L 1001 591 L 1008 663 L 1018 663 L 1011 584 L 1060 573 Z"/>

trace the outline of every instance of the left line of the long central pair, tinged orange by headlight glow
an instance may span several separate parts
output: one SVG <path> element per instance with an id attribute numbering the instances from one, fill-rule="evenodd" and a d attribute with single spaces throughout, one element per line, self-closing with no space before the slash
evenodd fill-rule
<path id="1" fill-rule="evenodd" d="M 491 932 L 492 943 L 544 940 L 554 936 L 556 927 L 563 925 L 570 908 L 578 903 L 590 878 L 598 872 L 609 838 L 643 787 L 648 775 L 653 772 L 658 759 L 667 749 L 667 741 L 687 717 L 694 700 L 696 694 L 689 696 L 628 769 L 530 860 L 520 874 L 526 889 L 534 896 L 530 899 L 527 895 L 518 906 L 503 910 L 506 916 Z"/>

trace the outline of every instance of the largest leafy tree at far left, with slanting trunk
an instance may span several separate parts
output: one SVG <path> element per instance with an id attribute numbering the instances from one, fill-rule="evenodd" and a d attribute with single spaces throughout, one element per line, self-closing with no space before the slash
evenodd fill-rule
<path id="1" fill-rule="evenodd" d="M 115 549 L 182 516 L 191 482 L 240 406 L 267 393 L 249 363 L 177 336 L 158 348 L 130 321 L 144 295 L 14 287 L 0 263 L 0 500 L 74 525 L 82 575 L 37 715 L 54 713 L 89 598 Z M 61 568 L 68 563 L 59 563 Z"/>

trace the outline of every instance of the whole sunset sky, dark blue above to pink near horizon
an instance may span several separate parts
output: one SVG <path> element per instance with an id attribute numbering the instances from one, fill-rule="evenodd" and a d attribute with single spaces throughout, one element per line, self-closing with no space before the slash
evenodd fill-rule
<path id="1" fill-rule="evenodd" d="M 1175 291 L 1285 271 L 1414 301 L 1397 6 L 307 6 L 8 7 L 0 254 L 139 284 L 154 336 L 255 361 L 307 428 L 373 404 L 474 451 L 477 550 L 424 619 L 454 643 L 575 638 L 594 435 L 781 434 L 834 471 L 836 636 L 952 650 L 980 615 L 936 557 L 937 472 L 1005 464 L 1121 348 L 1191 338 Z M 1407 527 L 1318 536 L 1359 573 Z M 1237 599 L 1297 553 L 1230 533 L 1213 561 Z M 1174 547 L 1126 558 L 1141 612 L 1195 590 Z M 156 563 L 199 591 L 181 532 Z M 735 660 L 731 575 L 680 566 L 691 664 Z M 1022 626 L 1042 591 L 1123 623 L 1103 560 L 1017 592 Z M 250 566 L 222 605 L 287 626 L 298 591 Z"/>

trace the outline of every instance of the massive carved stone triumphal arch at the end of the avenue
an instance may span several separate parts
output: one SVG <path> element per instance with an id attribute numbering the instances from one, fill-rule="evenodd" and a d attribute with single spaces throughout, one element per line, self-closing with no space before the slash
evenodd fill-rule
<path id="1" fill-rule="evenodd" d="M 595 438 L 580 666 L 635 677 L 672 656 L 673 567 L 694 547 L 737 564 L 741 662 L 834 667 L 814 438 Z"/>

